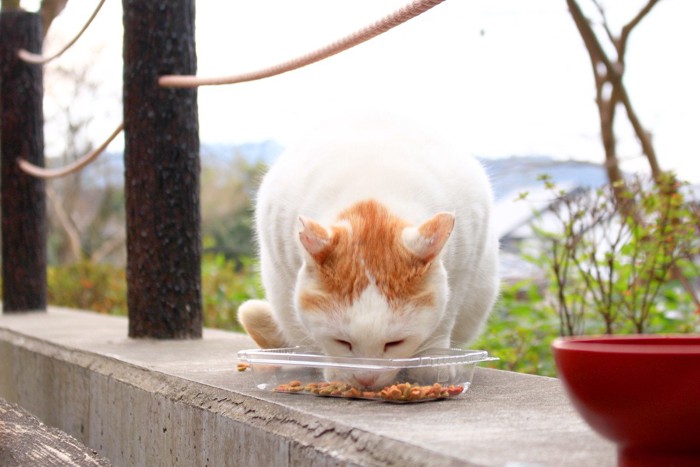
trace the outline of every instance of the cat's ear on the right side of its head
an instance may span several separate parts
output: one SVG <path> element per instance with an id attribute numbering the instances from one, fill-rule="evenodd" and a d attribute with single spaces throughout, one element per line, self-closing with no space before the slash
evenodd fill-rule
<path id="1" fill-rule="evenodd" d="M 403 229 L 401 239 L 408 251 L 429 263 L 442 251 L 454 225 L 454 214 L 441 212 L 418 227 Z"/>

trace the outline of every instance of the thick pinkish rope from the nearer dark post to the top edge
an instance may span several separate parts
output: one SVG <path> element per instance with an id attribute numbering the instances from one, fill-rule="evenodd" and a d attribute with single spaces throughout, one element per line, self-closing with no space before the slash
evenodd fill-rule
<path id="1" fill-rule="evenodd" d="M 394 13 L 376 21 L 375 23 L 339 39 L 326 47 L 317 49 L 306 55 L 294 58 L 292 60 L 282 62 L 278 65 L 264 68 L 258 71 L 242 73 L 233 76 L 224 76 L 219 78 L 200 78 L 197 76 L 178 76 L 165 75 L 161 76 L 158 83 L 164 87 L 174 88 L 193 88 L 197 86 L 217 86 L 222 84 L 235 84 L 247 81 L 255 81 L 271 76 L 281 75 L 288 71 L 302 68 L 306 65 L 316 63 L 347 49 L 355 47 L 363 42 L 366 42 L 402 23 L 405 23 L 411 18 L 414 18 L 421 13 L 428 11 L 434 6 L 442 3 L 444 0 L 414 0 L 410 4 L 396 10 Z"/>

